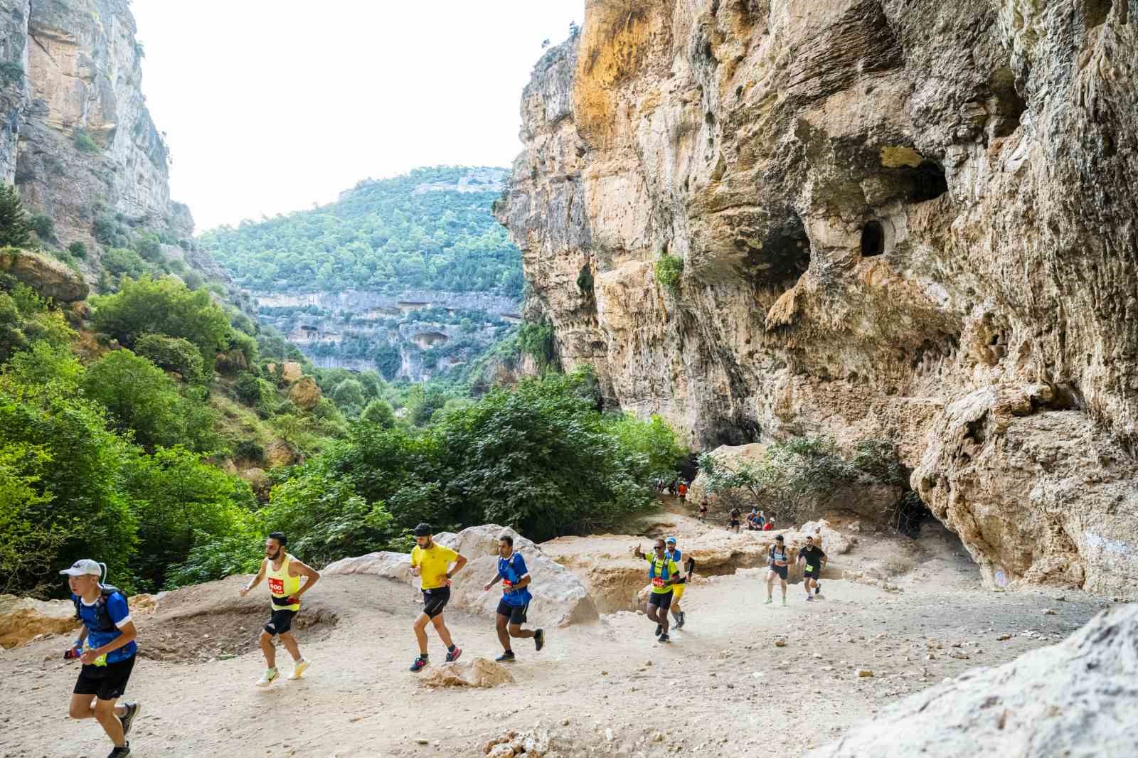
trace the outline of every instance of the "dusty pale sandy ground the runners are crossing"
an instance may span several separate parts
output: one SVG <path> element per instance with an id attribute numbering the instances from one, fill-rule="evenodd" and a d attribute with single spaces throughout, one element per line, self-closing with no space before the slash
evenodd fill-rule
<path id="1" fill-rule="evenodd" d="M 918 541 L 859 537 L 828 574 L 907 555 L 915 568 L 897 579 L 902 592 L 826 578 L 822 601 L 807 603 L 792 585 L 786 607 L 777 588 L 765 605 L 761 571 L 742 569 L 691 586 L 687 626 L 670 645 L 655 642 L 644 616 L 621 611 L 549 629 L 541 653 L 521 641 L 516 683 L 493 690 L 419 685 L 406 670 L 418 592 L 362 576 L 314 588 L 302 617 L 321 623 L 298 633 L 312 668 L 258 690 L 253 638 L 267 599 L 236 600 L 238 577 L 201 585 L 139 619 L 140 644 L 159 659 L 142 658 L 129 689 L 127 699 L 143 703 L 132 755 L 479 756 L 488 736 L 539 723 L 561 756 L 793 757 L 909 692 L 1061 640 L 1104 604 L 1070 591 L 979 590 L 958 543 L 939 529 Z M 497 654 L 489 619 L 448 612 L 447 621 L 464 659 Z M 66 716 L 77 668 L 61 660 L 64 646 L 56 637 L 2 653 L 0 757 L 109 750 L 97 724 Z M 434 636 L 431 654 L 443 660 Z M 859 677 L 859 668 L 873 676 Z"/>

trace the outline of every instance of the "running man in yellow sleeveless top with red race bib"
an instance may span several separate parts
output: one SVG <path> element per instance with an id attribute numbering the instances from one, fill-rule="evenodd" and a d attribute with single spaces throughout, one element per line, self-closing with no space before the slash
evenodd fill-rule
<path id="1" fill-rule="evenodd" d="M 288 675 L 290 679 L 298 679 L 308 668 L 308 661 L 300 656 L 300 648 L 292 636 L 292 619 L 300 612 L 300 595 L 312 590 L 312 585 L 320 580 L 320 574 L 305 566 L 296 557 L 284 552 L 288 537 L 282 532 L 273 532 L 265 538 L 265 557 L 261 560 L 261 570 L 253 582 L 238 591 L 242 598 L 249 591 L 261 584 L 261 580 L 269 577 L 269 602 L 271 615 L 265 628 L 257 640 L 261 644 L 261 652 L 265 654 L 265 673 L 257 679 L 258 687 L 267 687 L 277 679 L 277 645 L 273 637 L 280 637 L 284 649 L 292 656 L 292 673 Z M 300 577 L 305 582 L 300 584 Z"/>

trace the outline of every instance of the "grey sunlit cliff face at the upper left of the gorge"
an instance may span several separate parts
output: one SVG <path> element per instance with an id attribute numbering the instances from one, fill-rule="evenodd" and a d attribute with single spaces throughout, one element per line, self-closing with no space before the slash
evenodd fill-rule
<path id="1" fill-rule="evenodd" d="M 188 237 L 188 217 L 172 212 L 166 146 L 142 96 L 127 0 L 0 0 L 0 25 L 9 74 L 0 91 L 0 171 L 25 205 L 51 216 L 65 244 L 90 242 L 104 212 Z"/>

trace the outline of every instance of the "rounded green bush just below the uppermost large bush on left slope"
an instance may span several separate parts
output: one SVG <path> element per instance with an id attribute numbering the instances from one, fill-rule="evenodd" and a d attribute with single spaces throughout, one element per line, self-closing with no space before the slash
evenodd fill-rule
<path id="1" fill-rule="evenodd" d="M 201 402 L 182 396 L 165 371 L 127 349 L 96 361 L 82 381 L 88 397 L 101 403 L 121 432 L 152 450 L 184 444 L 213 450 L 213 412 Z"/>

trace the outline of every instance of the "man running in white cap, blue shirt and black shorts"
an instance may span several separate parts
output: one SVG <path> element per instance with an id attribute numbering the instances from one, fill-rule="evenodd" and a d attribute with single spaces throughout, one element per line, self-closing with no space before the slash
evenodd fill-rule
<path id="1" fill-rule="evenodd" d="M 72 690 L 67 715 L 99 722 L 115 745 L 108 758 L 122 758 L 131 755 L 126 735 L 140 710 L 137 702 L 117 705 L 134 669 L 138 631 L 131 620 L 126 595 L 100 582 L 106 568 L 82 559 L 60 571 L 67 575 L 75 618 L 83 623 L 79 638 L 64 654 L 68 660 L 77 658 L 83 664 Z M 84 641 L 86 650 L 83 650 Z"/>

